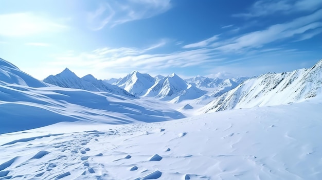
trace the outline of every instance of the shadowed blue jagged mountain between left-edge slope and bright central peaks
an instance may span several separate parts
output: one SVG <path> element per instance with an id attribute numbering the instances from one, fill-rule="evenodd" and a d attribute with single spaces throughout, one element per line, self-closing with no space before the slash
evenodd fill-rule
<path id="1" fill-rule="evenodd" d="M 43 80 L 45 83 L 56 85 L 63 88 L 74 88 L 83 89 L 87 91 L 100 91 L 100 92 L 110 92 L 117 95 L 124 95 L 129 97 L 135 97 L 126 90 L 105 83 L 102 80 L 96 79 L 93 75 L 88 74 L 84 77 L 78 77 L 74 72 L 71 72 L 68 68 L 63 70 L 57 75 L 50 75 Z"/>

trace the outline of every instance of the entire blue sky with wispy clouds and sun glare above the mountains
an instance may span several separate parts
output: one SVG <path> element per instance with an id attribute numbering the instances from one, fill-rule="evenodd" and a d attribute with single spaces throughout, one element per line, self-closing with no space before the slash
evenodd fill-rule
<path id="1" fill-rule="evenodd" d="M 39 79 L 253 76 L 322 58 L 320 0 L 2 0 L 0 24 L 0 57 Z"/>

